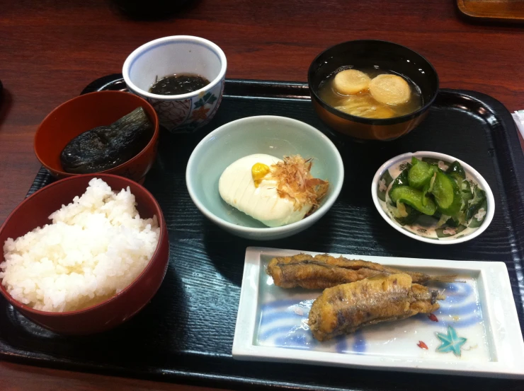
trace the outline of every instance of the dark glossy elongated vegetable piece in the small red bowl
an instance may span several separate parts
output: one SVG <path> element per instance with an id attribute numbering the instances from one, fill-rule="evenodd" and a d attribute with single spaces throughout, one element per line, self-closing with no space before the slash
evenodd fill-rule
<path id="1" fill-rule="evenodd" d="M 66 173 L 98 173 L 137 155 L 151 140 L 152 122 L 142 107 L 113 122 L 96 127 L 69 141 L 60 154 Z"/>

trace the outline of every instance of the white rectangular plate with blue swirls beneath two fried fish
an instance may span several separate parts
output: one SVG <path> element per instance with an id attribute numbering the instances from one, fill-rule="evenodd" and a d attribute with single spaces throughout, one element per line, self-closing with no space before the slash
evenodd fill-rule
<path id="1" fill-rule="evenodd" d="M 465 283 L 428 284 L 446 296 L 431 317 L 419 314 L 318 342 L 309 331 L 307 317 L 321 291 L 279 288 L 265 272 L 273 257 L 299 253 L 318 254 L 247 248 L 233 342 L 234 358 L 524 378 L 524 342 L 503 262 L 343 255 L 434 276 L 457 274 L 457 279 Z M 453 344 L 456 339 L 452 337 L 450 344 L 446 344 L 437 333 L 440 337 L 455 333 L 455 337 L 466 341 Z M 458 345 L 455 352 L 450 349 L 453 345 Z"/>

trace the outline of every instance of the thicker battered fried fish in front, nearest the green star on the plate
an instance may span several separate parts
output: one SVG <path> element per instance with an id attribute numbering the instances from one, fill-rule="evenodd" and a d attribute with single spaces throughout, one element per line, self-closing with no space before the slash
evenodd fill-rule
<path id="1" fill-rule="evenodd" d="M 325 289 L 309 311 L 309 328 L 315 339 L 326 341 L 360 327 L 433 313 L 444 298 L 412 284 L 408 274 L 374 276 Z"/>

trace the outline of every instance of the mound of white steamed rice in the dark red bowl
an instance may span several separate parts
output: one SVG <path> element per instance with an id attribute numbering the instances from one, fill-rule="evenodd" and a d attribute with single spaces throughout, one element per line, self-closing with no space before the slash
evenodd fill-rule
<path id="1" fill-rule="evenodd" d="M 159 241 L 156 216 L 140 218 L 129 187 L 115 194 L 97 178 L 49 218 L 52 224 L 6 240 L 0 264 L 8 293 L 37 310 L 78 310 L 122 291 Z"/>

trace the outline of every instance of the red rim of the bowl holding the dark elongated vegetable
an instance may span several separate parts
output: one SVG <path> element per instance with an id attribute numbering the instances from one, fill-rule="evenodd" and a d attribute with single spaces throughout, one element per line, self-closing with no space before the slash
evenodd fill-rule
<path id="1" fill-rule="evenodd" d="M 59 110 L 62 107 L 65 107 L 66 105 L 69 105 L 69 103 L 72 103 L 74 100 L 81 100 L 82 98 L 84 98 L 84 96 L 91 95 L 91 94 L 97 94 L 97 95 L 98 94 L 105 94 L 105 95 L 123 96 L 122 94 L 129 94 L 129 93 L 127 93 L 125 91 L 93 91 L 92 93 L 84 93 L 82 95 L 75 96 L 74 98 L 69 99 L 69 100 L 65 101 L 64 103 L 58 105 L 48 115 L 46 115 L 44 119 L 42 119 L 42 122 L 40 122 L 40 124 L 38 125 L 38 128 L 36 129 L 35 136 L 33 136 L 33 151 L 35 151 L 35 155 L 36 155 L 36 158 L 38 159 L 38 161 L 40 161 L 40 163 L 42 163 L 42 165 L 45 168 L 47 168 L 47 170 L 49 170 L 50 173 L 52 173 L 53 176 L 55 176 L 55 173 L 57 173 L 58 175 L 66 176 L 66 177 L 74 177 L 76 175 L 84 175 L 84 174 L 67 173 L 66 171 L 64 171 L 64 168 L 62 168 L 61 170 L 57 170 L 55 168 L 51 168 L 41 158 L 41 156 L 38 154 L 38 148 L 37 148 L 37 143 L 36 143 L 36 136 L 37 136 L 38 132 L 40 132 L 40 129 L 42 128 L 42 124 L 44 122 L 46 122 L 47 119 L 50 119 L 53 115 L 55 115 L 55 112 L 57 112 L 57 110 Z M 134 95 L 134 94 L 131 94 L 131 95 Z M 138 95 L 134 95 L 134 96 L 136 98 L 139 98 L 139 100 L 142 100 L 142 104 L 146 105 L 146 106 L 149 106 L 151 108 L 152 112 L 154 113 L 154 117 L 152 118 L 152 122 L 153 122 L 153 125 L 154 125 L 154 132 L 153 132 L 153 135 L 151 137 L 151 140 L 149 140 L 149 142 L 146 144 L 146 146 L 144 146 L 144 148 L 142 148 L 142 150 L 139 151 L 139 153 L 137 153 L 135 156 L 133 156 L 129 160 L 125 161 L 122 164 L 116 165 L 115 167 L 108 168 L 107 170 L 99 171 L 99 172 L 97 172 L 95 174 L 106 174 L 106 173 L 110 174 L 110 173 L 114 173 L 119 168 L 122 168 L 124 165 L 132 165 L 133 162 L 137 161 L 139 159 L 139 157 L 144 155 L 144 153 L 146 153 L 146 151 L 149 148 L 151 148 L 152 146 L 154 146 L 156 141 L 158 141 L 159 133 L 160 133 L 160 131 L 159 131 L 160 122 L 159 122 L 159 117 L 156 114 L 156 110 L 154 110 L 154 107 L 149 102 L 147 102 L 147 100 L 142 98 L 141 96 L 138 96 Z M 148 114 L 148 117 L 149 117 L 149 113 L 147 113 L 147 114 Z M 69 141 L 71 141 L 71 140 L 69 140 Z"/>

